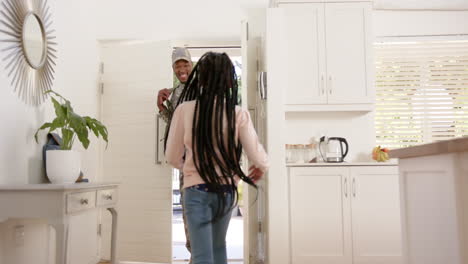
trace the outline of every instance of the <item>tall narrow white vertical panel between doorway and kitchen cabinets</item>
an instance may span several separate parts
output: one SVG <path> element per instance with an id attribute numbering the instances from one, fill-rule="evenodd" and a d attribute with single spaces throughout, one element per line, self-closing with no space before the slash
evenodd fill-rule
<path id="1" fill-rule="evenodd" d="M 266 178 L 268 189 L 267 255 L 269 264 L 290 262 L 289 196 L 285 161 L 284 91 L 288 87 L 286 75 L 287 43 L 281 8 L 267 10 L 266 67 L 268 71 L 268 103 L 266 107 L 267 149 L 270 169 Z"/>

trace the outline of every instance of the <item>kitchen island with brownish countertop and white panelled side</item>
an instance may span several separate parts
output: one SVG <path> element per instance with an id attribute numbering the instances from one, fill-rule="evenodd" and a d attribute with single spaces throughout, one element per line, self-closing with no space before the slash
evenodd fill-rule
<path id="1" fill-rule="evenodd" d="M 390 151 L 399 158 L 405 258 L 468 263 L 468 137 Z"/>

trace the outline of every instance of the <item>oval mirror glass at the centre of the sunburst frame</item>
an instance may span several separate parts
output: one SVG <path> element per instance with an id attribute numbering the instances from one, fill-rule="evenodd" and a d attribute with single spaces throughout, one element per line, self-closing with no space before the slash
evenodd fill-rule
<path id="1" fill-rule="evenodd" d="M 23 49 L 26 60 L 35 69 L 40 68 L 45 61 L 46 42 L 44 36 L 41 20 L 34 13 L 29 13 L 23 24 Z"/>

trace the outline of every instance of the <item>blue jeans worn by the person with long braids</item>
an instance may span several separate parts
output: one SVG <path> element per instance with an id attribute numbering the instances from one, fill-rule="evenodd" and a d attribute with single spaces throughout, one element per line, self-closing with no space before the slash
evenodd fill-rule
<path id="1" fill-rule="evenodd" d="M 233 199 L 226 193 L 227 204 Z M 216 222 L 211 222 L 218 207 L 218 196 L 193 188 L 184 189 L 184 213 L 187 218 L 192 264 L 227 264 L 226 233 L 231 220 L 231 208 Z"/>

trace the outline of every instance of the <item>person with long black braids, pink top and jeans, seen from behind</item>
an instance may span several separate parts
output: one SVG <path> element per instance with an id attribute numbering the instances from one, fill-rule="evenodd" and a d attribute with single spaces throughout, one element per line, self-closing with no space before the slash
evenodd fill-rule
<path id="1" fill-rule="evenodd" d="M 234 66 L 208 52 L 189 76 L 166 137 L 166 159 L 184 172 L 184 208 L 193 264 L 226 264 L 226 232 L 239 180 L 257 187 L 268 168 L 249 112 L 237 106 Z M 245 150 L 253 164 L 239 164 Z"/>

